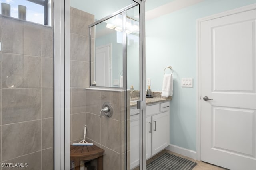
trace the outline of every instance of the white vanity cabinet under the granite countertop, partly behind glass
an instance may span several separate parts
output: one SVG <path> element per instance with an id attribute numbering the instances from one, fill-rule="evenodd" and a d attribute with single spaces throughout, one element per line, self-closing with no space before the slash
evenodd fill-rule
<path id="1" fill-rule="evenodd" d="M 170 144 L 170 103 L 146 106 L 146 159 Z M 130 168 L 140 162 L 140 119 L 136 108 L 130 110 Z"/>

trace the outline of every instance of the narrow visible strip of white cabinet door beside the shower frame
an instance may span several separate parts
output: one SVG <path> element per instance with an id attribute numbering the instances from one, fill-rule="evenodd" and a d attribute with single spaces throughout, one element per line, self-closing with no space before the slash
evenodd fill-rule
<path id="1" fill-rule="evenodd" d="M 146 159 L 151 156 L 152 123 L 151 116 L 146 117 Z"/>

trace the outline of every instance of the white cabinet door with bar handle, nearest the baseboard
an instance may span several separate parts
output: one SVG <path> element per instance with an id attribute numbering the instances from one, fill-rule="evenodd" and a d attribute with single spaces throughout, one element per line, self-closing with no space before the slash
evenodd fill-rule
<path id="1" fill-rule="evenodd" d="M 169 112 L 152 116 L 152 155 L 170 144 Z"/>

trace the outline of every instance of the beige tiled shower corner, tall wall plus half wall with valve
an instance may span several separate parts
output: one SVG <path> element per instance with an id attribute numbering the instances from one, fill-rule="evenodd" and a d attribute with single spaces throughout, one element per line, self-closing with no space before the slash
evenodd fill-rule
<path id="1" fill-rule="evenodd" d="M 87 140 L 105 150 L 104 170 L 124 169 L 124 92 L 85 90 L 90 77 L 88 25 L 93 22 L 92 14 L 71 7 L 71 143 L 82 140 L 86 125 Z M 102 104 L 107 101 L 114 113 L 111 118 L 100 118 Z"/>

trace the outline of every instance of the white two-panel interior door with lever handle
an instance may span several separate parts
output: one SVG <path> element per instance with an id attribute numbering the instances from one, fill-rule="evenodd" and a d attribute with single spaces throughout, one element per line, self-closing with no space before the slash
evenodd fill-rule
<path id="1" fill-rule="evenodd" d="M 201 160 L 232 170 L 256 169 L 256 10 L 247 8 L 199 25 Z"/>

